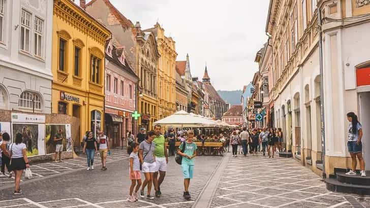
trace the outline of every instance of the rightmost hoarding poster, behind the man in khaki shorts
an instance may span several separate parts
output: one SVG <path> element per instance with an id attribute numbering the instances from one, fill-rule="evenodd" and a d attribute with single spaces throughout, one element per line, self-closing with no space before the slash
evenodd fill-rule
<path id="1" fill-rule="evenodd" d="M 63 152 L 72 151 L 71 125 L 70 124 L 47 124 L 45 126 L 45 147 L 46 154 L 55 153 L 54 137 L 56 134 L 63 137 Z"/>

